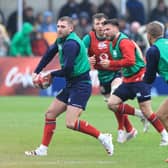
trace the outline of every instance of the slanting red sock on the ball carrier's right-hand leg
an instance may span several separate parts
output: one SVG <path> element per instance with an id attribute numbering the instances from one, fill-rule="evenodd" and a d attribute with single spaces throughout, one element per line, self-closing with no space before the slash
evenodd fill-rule
<path id="1" fill-rule="evenodd" d="M 88 124 L 88 122 L 83 120 L 76 120 L 74 130 L 83 132 L 85 134 L 91 135 L 95 138 L 98 138 L 100 131 Z"/>

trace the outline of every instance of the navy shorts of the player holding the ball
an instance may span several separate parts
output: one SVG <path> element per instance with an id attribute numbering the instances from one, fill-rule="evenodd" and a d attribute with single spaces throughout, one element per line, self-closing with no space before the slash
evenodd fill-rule
<path id="1" fill-rule="evenodd" d="M 91 83 L 78 81 L 75 83 L 68 83 L 66 87 L 59 92 L 56 98 L 67 105 L 85 110 L 91 92 Z"/>

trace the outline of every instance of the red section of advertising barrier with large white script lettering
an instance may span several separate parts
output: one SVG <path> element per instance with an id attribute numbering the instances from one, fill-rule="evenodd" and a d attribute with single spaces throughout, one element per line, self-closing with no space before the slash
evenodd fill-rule
<path id="1" fill-rule="evenodd" d="M 33 87 L 31 74 L 40 57 L 3 57 L 0 58 L 0 96 L 39 95 Z M 54 61 L 53 61 L 54 62 Z M 48 69 L 58 68 L 59 64 L 49 64 Z"/>

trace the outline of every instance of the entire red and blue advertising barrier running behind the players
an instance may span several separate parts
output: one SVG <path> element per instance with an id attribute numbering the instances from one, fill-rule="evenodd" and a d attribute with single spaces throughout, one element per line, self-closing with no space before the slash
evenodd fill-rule
<path id="1" fill-rule="evenodd" d="M 63 78 L 55 78 L 53 85 L 45 90 L 33 87 L 31 74 L 40 61 L 40 57 L 2 57 L 0 58 L 0 96 L 40 95 L 55 96 L 65 86 Z M 58 58 L 55 57 L 47 69 L 58 69 Z M 99 94 L 97 71 L 91 70 L 92 93 Z M 152 87 L 152 95 L 168 95 L 168 85 L 157 77 Z"/>

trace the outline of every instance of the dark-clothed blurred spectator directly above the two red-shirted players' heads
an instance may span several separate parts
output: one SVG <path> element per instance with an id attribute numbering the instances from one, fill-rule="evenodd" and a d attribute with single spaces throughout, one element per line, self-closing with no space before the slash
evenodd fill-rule
<path id="1" fill-rule="evenodd" d="M 102 4 L 98 7 L 98 12 L 104 13 L 108 18 L 117 18 L 118 11 L 116 6 L 111 2 L 111 0 L 104 0 Z"/>

